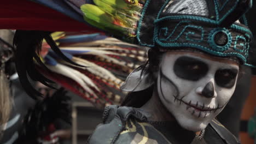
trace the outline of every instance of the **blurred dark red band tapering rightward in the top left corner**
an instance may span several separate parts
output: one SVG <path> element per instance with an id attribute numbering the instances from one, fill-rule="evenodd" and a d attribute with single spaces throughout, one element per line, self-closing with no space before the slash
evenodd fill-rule
<path id="1" fill-rule="evenodd" d="M 0 6 L 0 29 L 98 32 L 85 23 L 27 0 L 5 0 Z"/>

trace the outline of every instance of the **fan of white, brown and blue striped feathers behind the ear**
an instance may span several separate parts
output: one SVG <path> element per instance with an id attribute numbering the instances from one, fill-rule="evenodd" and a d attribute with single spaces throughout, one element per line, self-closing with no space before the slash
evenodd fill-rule
<path id="1" fill-rule="evenodd" d="M 56 39 L 63 55 L 86 67 L 65 62 L 49 50 L 48 55 L 44 57 L 44 64 L 50 71 L 42 66 L 38 66 L 37 70 L 97 107 L 120 104 L 125 93 L 121 92 L 119 87 L 133 69 L 146 61 L 146 48 L 98 33 L 59 35 L 66 35 Z M 49 46 L 43 43 L 42 50 L 48 48 Z"/>

